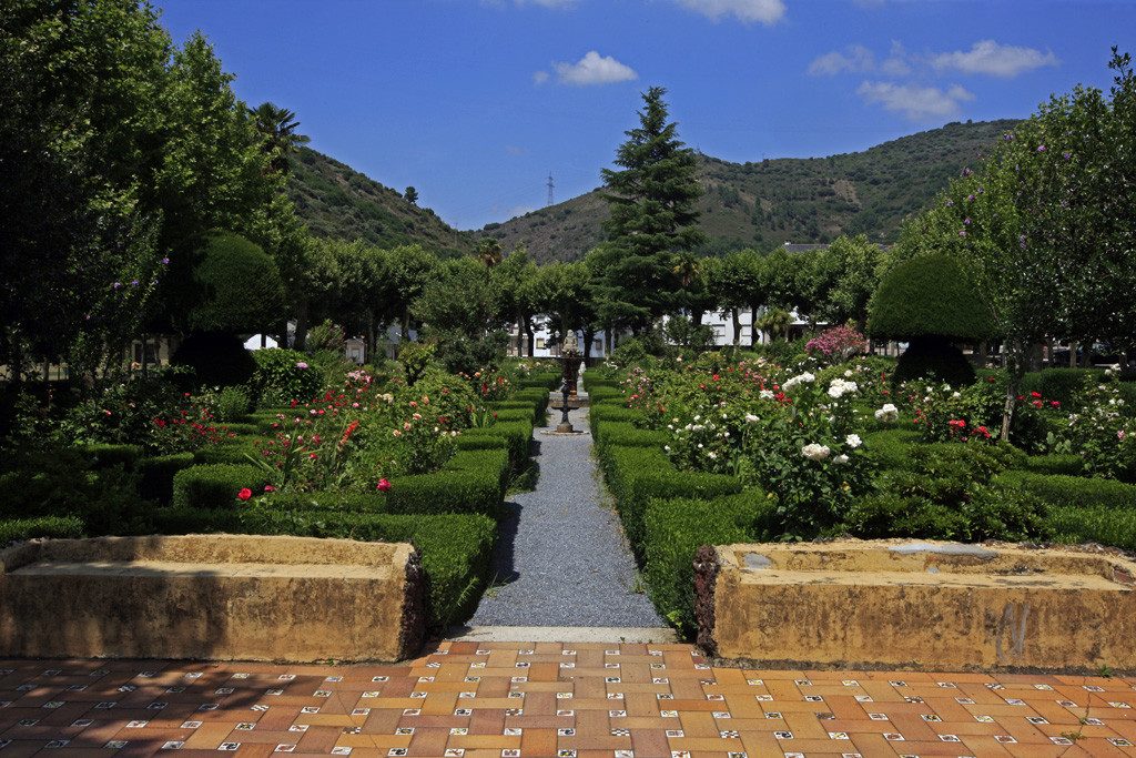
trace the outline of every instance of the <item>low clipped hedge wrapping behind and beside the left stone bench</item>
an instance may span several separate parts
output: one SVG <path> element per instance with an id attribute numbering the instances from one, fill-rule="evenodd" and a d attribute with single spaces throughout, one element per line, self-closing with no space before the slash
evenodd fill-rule
<path id="1" fill-rule="evenodd" d="M 384 505 L 373 500 L 376 502 L 370 506 Z M 299 508 L 304 505 L 307 508 Z M 361 500 L 350 505 L 368 507 Z M 158 510 L 154 522 L 164 534 L 226 532 L 411 542 L 421 555 L 427 624 L 444 630 L 473 615 L 492 567 L 496 542 L 493 519 L 477 514 L 399 515 L 336 507 L 323 498 L 308 503 L 274 500 L 264 510 L 248 506 L 225 510 L 174 507 Z"/>

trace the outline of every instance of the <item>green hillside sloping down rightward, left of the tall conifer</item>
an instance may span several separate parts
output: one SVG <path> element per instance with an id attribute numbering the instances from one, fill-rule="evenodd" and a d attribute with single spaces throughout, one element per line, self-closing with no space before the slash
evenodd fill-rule
<path id="1" fill-rule="evenodd" d="M 471 233 L 452 228 L 429 208 L 309 148 L 292 160 L 287 193 L 317 238 L 362 239 L 378 248 L 418 242 L 442 257 L 471 253 L 476 244 Z"/>

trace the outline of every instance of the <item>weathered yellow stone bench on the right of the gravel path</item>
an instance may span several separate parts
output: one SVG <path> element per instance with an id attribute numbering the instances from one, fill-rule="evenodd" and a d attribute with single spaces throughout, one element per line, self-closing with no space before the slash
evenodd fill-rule
<path id="1" fill-rule="evenodd" d="M 724 658 L 924 670 L 1136 668 L 1136 563 L 901 540 L 703 548 L 699 642 Z"/>

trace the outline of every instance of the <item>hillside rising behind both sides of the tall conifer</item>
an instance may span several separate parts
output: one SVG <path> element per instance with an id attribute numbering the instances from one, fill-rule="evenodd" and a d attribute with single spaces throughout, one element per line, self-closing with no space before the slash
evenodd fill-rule
<path id="1" fill-rule="evenodd" d="M 861 233 L 894 242 L 907 216 L 927 207 L 1018 123 L 952 123 L 827 158 L 734 164 L 700 155 L 705 189 L 700 223 L 710 241 L 699 252 L 770 250 L 790 241 L 829 242 Z M 476 235 L 496 238 L 507 250 L 523 244 L 540 263 L 577 260 L 603 240 L 608 208 L 600 192 L 488 224 Z"/>

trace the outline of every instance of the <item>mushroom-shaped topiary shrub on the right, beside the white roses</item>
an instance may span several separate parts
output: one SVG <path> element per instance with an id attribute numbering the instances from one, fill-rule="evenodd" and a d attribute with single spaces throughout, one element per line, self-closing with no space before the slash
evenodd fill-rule
<path id="1" fill-rule="evenodd" d="M 896 382 L 934 375 L 951 384 L 970 384 L 974 367 L 952 341 L 989 339 L 994 314 L 957 260 L 921 256 L 900 264 L 880 282 L 868 333 L 910 342 L 895 367 Z"/>

